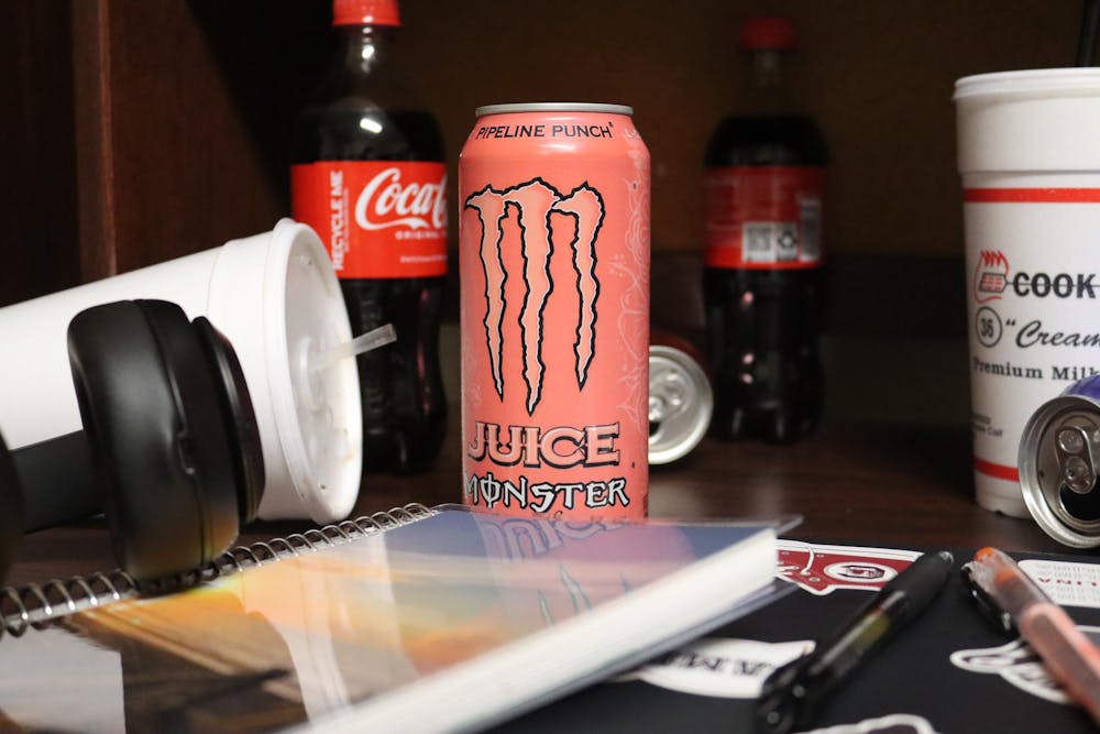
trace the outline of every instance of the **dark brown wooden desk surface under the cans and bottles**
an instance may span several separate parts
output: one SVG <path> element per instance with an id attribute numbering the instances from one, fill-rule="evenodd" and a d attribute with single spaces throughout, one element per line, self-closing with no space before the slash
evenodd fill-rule
<path id="1" fill-rule="evenodd" d="M 421 502 L 461 502 L 460 457 L 452 438 L 431 472 L 371 474 L 355 514 Z M 705 440 L 691 456 L 650 472 L 650 514 L 735 517 L 798 514 L 800 539 L 878 546 L 1072 552 L 1034 522 L 1004 517 L 974 502 L 970 436 L 943 427 L 832 425 L 791 446 Z M 300 532 L 307 523 L 254 523 L 242 541 Z M 89 519 L 23 539 L 8 583 L 21 584 L 114 568 L 106 524 Z"/>

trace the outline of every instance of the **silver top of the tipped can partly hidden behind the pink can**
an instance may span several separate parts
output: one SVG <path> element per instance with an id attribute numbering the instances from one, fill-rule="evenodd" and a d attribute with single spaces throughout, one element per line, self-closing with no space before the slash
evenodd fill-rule
<path id="1" fill-rule="evenodd" d="M 703 440 L 713 412 L 714 393 L 703 368 L 673 347 L 650 347 L 649 463 L 686 456 Z"/>

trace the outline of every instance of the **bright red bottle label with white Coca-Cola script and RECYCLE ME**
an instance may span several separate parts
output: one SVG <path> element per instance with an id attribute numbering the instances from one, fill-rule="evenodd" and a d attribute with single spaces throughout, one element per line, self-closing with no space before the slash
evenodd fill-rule
<path id="1" fill-rule="evenodd" d="M 341 278 L 447 273 L 447 166 L 319 161 L 292 167 L 294 218 L 317 230 Z"/>

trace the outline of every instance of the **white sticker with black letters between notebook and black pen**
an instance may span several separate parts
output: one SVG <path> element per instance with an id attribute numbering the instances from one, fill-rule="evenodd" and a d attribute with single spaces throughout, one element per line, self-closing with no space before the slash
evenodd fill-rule
<path id="1" fill-rule="evenodd" d="M 761 643 L 704 637 L 656 662 L 619 676 L 616 682 L 642 680 L 670 691 L 724 699 L 755 699 L 771 672 L 814 648 L 810 640 Z"/>

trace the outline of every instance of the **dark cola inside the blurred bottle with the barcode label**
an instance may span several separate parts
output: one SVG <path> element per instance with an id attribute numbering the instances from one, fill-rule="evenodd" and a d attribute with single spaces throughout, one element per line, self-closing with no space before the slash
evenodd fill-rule
<path id="1" fill-rule="evenodd" d="M 705 164 L 824 166 L 827 153 L 813 120 L 796 116 L 724 120 Z M 818 339 L 824 307 L 821 267 L 706 267 L 706 351 L 715 377 L 711 432 L 791 441 L 817 426 L 824 399 Z"/>

